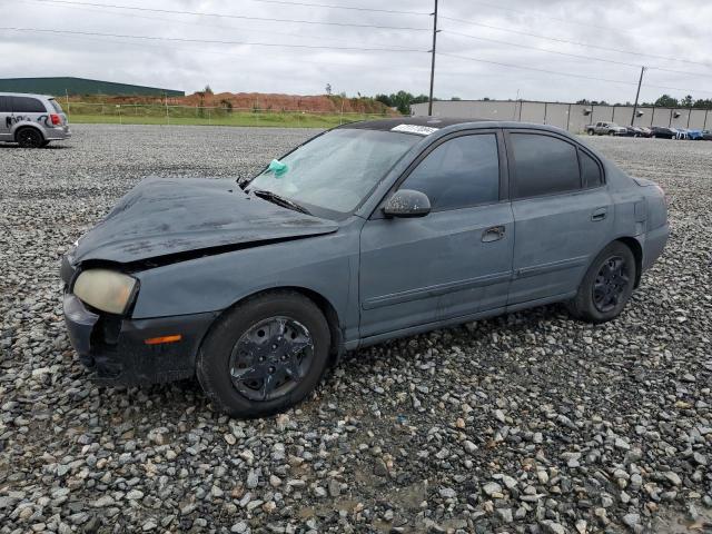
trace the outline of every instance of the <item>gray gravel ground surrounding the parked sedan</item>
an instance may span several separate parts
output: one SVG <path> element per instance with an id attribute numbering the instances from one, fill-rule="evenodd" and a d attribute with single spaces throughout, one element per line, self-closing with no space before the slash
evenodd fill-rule
<path id="1" fill-rule="evenodd" d="M 100 388 L 58 258 L 147 175 L 248 175 L 307 130 L 76 126 L 0 147 L 0 533 L 710 532 L 712 142 L 595 138 L 671 200 L 631 305 L 536 308 L 348 355 L 299 409 Z"/>

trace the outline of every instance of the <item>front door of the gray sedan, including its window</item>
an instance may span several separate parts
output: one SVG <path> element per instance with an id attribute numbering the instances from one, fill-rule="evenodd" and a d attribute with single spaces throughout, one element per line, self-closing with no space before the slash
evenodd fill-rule
<path id="1" fill-rule="evenodd" d="M 514 219 L 503 142 L 487 130 L 431 147 L 397 188 L 425 192 L 432 211 L 392 219 L 377 211 L 364 225 L 362 338 L 506 305 Z"/>

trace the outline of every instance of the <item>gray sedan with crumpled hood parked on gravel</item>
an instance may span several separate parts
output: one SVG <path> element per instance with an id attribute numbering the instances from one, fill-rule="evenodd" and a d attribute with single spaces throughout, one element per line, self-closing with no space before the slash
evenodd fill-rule
<path id="1" fill-rule="evenodd" d="M 265 416 L 345 350 L 556 301 L 611 320 L 668 234 L 660 187 L 556 128 L 358 122 L 239 184 L 142 181 L 62 259 L 65 317 L 100 383 L 197 376 Z"/>

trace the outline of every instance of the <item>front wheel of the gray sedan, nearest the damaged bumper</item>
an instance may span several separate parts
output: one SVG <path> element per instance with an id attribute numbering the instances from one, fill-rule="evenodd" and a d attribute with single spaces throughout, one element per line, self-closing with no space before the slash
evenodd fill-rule
<path id="1" fill-rule="evenodd" d="M 264 417 L 316 387 L 329 345 L 329 326 L 310 299 L 296 291 L 258 295 L 218 318 L 198 353 L 196 375 L 218 411 Z"/>

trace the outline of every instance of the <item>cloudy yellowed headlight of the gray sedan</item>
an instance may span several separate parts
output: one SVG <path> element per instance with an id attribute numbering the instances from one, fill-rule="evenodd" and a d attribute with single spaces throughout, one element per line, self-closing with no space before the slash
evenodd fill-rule
<path id="1" fill-rule="evenodd" d="M 126 313 L 136 288 L 136 278 L 107 269 L 85 270 L 72 293 L 83 303 L 109 314 Z"/>

